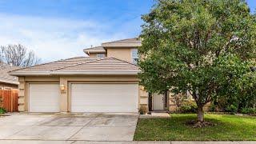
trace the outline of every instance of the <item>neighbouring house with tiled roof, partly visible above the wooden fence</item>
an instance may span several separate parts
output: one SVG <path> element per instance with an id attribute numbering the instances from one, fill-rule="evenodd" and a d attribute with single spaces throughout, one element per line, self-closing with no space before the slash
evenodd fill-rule
<path id="1" fill-rule="evenodd" d="M 0 62 L 0 90 L 18 89 L 18 77 L 8 74 L 10 70 L 16 69 L 18 69 L 17 66 Z"/>

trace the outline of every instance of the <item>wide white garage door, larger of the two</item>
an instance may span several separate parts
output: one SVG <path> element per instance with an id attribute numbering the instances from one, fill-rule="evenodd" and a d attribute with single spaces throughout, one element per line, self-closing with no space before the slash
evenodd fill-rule
<path id="1" fill-rule="evenodd" d="M 138 84 L 71 84 L 71 112 L 138 112 Z"/>

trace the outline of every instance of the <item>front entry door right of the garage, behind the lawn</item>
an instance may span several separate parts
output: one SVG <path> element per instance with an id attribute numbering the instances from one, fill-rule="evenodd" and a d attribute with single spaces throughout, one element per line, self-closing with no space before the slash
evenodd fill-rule
<path id="1" fill-rule="evenodd" d="M 153 110 L 164 110 L 164 94 L 153 94 Z"/>

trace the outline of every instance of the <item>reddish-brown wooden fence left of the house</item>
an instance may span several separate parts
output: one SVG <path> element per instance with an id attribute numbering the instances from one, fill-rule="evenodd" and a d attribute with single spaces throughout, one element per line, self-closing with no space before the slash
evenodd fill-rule
<path id="1" fill-rule="evenodd" d="M 17 112 L 18 90 L 0 90 L 0 107 L 7 112 Z"/>

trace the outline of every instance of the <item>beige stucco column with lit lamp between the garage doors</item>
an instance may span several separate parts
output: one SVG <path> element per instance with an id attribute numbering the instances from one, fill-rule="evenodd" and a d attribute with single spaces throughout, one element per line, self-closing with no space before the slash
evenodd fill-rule
<path id="1" fill-rule="evenodd" d="M 67 79 L 64 77 L 60 77 L 59 85 L 64 86 L 64 90 L 60 90 L 60 111 L 67 112 L 68 111 L 68 84 Z"/>

